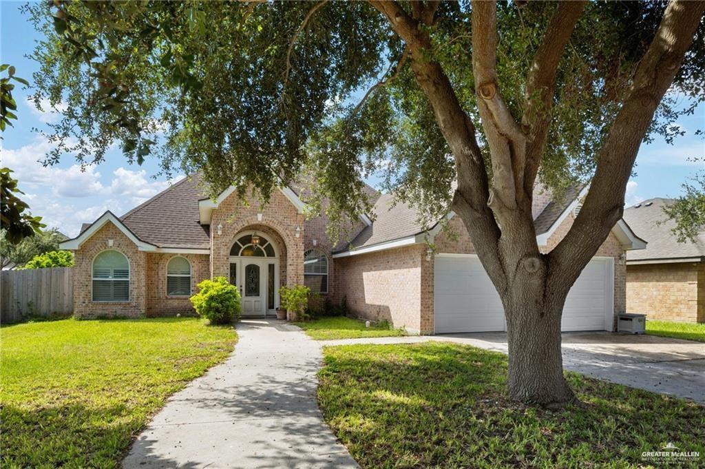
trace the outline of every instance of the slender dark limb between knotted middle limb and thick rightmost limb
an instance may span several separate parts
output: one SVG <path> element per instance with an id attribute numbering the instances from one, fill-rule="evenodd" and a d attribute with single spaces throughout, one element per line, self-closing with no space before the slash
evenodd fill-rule
<path id="1" fill-rule="evenodd" d="M 586 1 L 561 1 L 546 28 L 544 41 L 534 56 L 527 77 L 527 109 L 522 116 L 522 124 L 527 129 L 528 142 L 524 174 L 525 190 L 534 188 L 534 182 L 544 153 L 548 126 L 551 125 L 551 108 L 556 87 L 556 72 L 565 45 Z"/>

